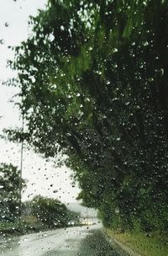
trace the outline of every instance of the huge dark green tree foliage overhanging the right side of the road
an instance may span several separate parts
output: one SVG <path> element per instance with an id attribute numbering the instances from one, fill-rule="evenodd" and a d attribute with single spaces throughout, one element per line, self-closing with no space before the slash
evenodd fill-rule
<path id="1" fill-rule="evenodd" d="M 108 226 L 118 207 L 123 227 L 167 227 L 167 11 L 159 0 L 49 1 L 9 63 L 25 137 L 46 157 L 59 145 L 79 198 Z"/>

